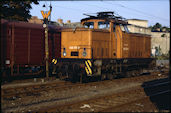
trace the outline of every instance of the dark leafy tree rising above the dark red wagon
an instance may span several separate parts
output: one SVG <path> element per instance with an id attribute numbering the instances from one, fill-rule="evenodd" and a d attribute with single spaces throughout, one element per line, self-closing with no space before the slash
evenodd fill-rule
<path id="1" fill-rule="evenodd" d="M 31 4 L 39 4 L 37 0 L 11 1 L 1 0 L 1 18 L 8 20 L 28 21 L 31 18 Z"/>

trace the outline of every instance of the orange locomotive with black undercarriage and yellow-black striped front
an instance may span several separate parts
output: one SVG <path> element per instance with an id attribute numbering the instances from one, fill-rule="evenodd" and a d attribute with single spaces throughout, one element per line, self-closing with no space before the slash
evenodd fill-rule
<path id="1" fill-rule="evenodd" d="M 128 23 L 113 12 L 99 12 L 81 23 L 84 28 L 61 33 L 61 59 L 54 69 L 60 78 L 82 81 L 136 75 L 154 61 L 150 35 L 130 33 Z"/>

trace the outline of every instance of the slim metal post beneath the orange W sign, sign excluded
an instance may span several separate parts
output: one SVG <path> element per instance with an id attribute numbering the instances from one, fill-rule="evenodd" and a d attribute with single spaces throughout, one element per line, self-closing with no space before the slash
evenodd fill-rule
<path id="1" fill-rule="evenodd" d="M 46 78 L 49 78 L 49 47 L 48 47 L 48 24 L 46 21 L 45 27 L 45 61 L 46 61 Z"/>

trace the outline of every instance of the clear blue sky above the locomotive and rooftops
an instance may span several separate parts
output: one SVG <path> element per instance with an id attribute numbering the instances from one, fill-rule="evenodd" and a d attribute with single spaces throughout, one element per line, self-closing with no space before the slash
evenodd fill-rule
<path id="1" fill-rule="evenodd" d="M 87 17 L 83 14 L 95 15 L 101 11 L 113 11 L 116 16 L 126 19 L 148 20 L 148 26 L 157 22 L 170 27 L 169 0 L 99 0 L 99 1 L 39 1 L 39 5 L 32 4 L 30 14 L 43 19 L 40 11 L 48 11 L 52 5 L 51 20 L 63 19 L 80 22 Z M 45 4 L 46 7 L 43 7 Z"/>

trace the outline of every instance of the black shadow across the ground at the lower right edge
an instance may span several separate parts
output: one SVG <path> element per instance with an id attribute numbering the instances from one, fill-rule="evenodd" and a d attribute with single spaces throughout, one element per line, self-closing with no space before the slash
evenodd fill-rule
<path id="1" fill-rule="evenodd" d="M 154 85 L 158 83 L 167 82 L 167 81 L 169 81 L 169 78 L 152 80 L 152 81 L 144 82 L 142 84 L 142 87 L 144 87 L 144 91 L 146 95 L 150 97 L 151 102 L 155 104 L 155 106 L 157 107 L 159 111 L 165 111 L 165 110 L 170 111 L 170 105 L 171 105 L 170 104 L 170 83 L 160 84 L 157 86 L 154 86 Z M 147 88 L 146 86 L 151 86 L 151 87 Z M 162 93 L 158 93 L 158 95 L 156 95 L 157 92 L 162 92 Z"/>

